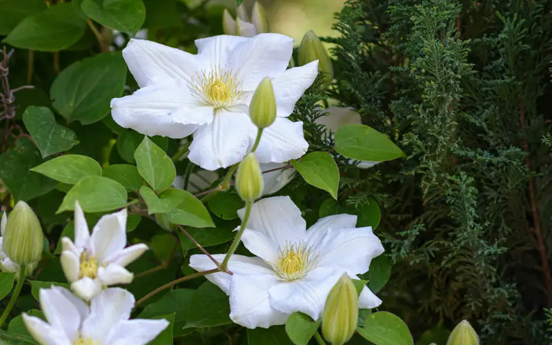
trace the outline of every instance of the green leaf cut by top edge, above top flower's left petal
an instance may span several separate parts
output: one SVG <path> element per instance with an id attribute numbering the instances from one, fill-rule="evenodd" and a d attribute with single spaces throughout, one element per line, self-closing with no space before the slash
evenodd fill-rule
<path id="1" fill-rule="evenodd" d="M 134 36 L 146 19 L 146 6 L 142 0 L 83 0 L 81 9 L 103 26 Z"/>

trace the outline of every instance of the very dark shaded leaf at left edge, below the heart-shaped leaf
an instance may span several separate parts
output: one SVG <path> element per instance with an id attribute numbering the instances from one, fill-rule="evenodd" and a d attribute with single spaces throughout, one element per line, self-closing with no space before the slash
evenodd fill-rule
<path id="1" fill-rule="evenodd" d="M 30 171 L 41 161 L 39 150 L 27 137 L 21 137 L 14 147 L 0 155 L 0 178 L 15 201 L 28 201 L 55 188 L 55 181 Z"/>

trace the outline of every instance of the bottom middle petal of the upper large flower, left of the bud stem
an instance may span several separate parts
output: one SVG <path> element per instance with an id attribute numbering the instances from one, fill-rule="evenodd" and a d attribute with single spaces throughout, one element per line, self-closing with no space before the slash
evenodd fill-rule
<path id="1" fill-rule="evenodd" d="M 244 113 L 219 109 L 213 123 L 194 133 L 188 159 L 206 170 L 226 168 L 244 159 L 250 136 L 256 132 Z"/>

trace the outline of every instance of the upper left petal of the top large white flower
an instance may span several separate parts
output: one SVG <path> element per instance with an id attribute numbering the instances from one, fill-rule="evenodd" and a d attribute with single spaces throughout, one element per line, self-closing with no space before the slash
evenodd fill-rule
<path id="1" fill-rule="evenodd" d="M 159 77 L 189 82 L 197 71 L 194 55 L 143 39 L 130 39 L 123 57 L 140 87 Z"/>

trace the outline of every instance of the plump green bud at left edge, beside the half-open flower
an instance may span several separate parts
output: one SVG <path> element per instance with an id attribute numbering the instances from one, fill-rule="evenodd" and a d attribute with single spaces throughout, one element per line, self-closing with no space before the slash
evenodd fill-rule
<path id="1" fill-rule="evenodd" d="M 37 215 L 25 201 L 19 201 L 10 216 L 3 236 L 4 253 L 19 265 L 41 259 L 43 234 Z"/>

